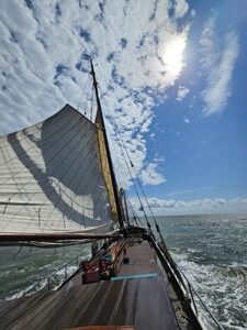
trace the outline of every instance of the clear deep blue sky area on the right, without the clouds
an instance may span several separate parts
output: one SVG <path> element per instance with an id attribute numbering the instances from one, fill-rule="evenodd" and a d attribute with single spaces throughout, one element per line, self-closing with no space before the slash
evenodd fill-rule
<path id="1" fill-rule="evenodd" d="M 206 1 L 206 6 L 202 1 L 189 1 L 189 6 L 197 14 L 183 52 L 187 67 L 168 89 L 166 101 L 155 108 L 151 133 L 146 136 L 150 151 L 148 161 L 160 155 L 165 157 L 158 168 L 165 173 L 166 182 L 149 187 L 148 193 L 158 198 L 154 205 L 162 205 L 164 199 L 167 201 L 169 209 L 162 209 L 164 213 L 244 211 L 245 206 L 233 200 L 247 196 L 247 11 L 239 1 Z M 227 92 L 223 90 L 220 95 L 224 106 L 216 105 L 215 112 L 206 116 L 200 40 L 205 22 L 212 15 L 216 18 L 215 43 L 220 43 L 215 45 L 215 52 L 221 51 L 222 40 L 231 30 L 237 35 L 239 51 Z M 211 69 L 215 68 L 212 66 Z M 189 90 L 181 101 L 177 98 L 179 86 Z M 217 88 L 216 84 L 214 87 Z M 210 112 L 210 108 L 206 111 Z M 220 205 L 212 207 L 217 199 Z M 195 200 L 200 200 L 200 209 L 191 207 L 191 201 Z M 188 209 L 179 208 L 179 201 L 187 202 Z"/>

